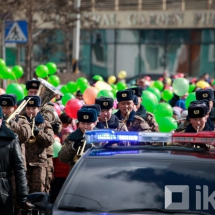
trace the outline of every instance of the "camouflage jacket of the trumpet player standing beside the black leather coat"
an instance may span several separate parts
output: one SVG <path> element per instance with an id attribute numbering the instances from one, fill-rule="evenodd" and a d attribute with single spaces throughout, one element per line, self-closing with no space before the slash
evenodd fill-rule
<path id="1" fill-rule="evenodd" d="M 51 124 L 40 113 L 35 118 L 35 125 L 39 128 L 39 133 L 34 143 L 25 144 L 26 162 L 30 166 L 46 166 L 46 150 L 54 143 L 54 132 Z"/>

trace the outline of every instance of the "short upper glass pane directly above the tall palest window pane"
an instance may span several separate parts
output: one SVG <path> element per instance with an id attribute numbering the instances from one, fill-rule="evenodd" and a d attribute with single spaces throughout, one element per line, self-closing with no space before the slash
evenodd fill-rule
<path id="1" fill-rule="evenodd" d="M 119 43 L 139 43 L 138 30 L 117 30 L 116 41 Z"/>

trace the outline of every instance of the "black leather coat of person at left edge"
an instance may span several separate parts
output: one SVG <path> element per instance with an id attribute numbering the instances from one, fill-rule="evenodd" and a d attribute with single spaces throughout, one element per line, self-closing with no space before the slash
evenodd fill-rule
<path id="1" fill-rule="evenodd" d="M 0 128 L 0 214 L 13 215 L 11 172 L 15 174 L 17 197 L 28 195 L 25 168 L 17 135 L 2 125 Z"/>

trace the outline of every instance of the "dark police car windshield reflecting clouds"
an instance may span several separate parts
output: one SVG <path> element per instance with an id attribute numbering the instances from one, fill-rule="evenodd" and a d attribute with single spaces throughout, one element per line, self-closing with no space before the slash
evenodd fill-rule
<path id="1" fill-rule="evenodd" d="M 174 185 L 180 189 L 183 185 L 188 187 L 188 193 L 185 197 L 182 192 L 173 193 L 173 203 L 187 198 L 189 207 L 185 204 L 186 210 L 213 214 L 215 203 L 212 200 L 210 203 L 209 196 L 215 191 L 214 168 L 213 159 L 171 152 L 157 153 L 157 156 L 153 153 L 153 158 L 150 152 L 129 159 L 125 154 L 89 156 L 81 161 L 64 187 L 58 208 L 72 211 L 74 207 L 82 207 L 95 212 L 165 209 L 165 186 Z M 204 204 L 203 198 L 196 197 L 197 191 L 207 196 Z"/>

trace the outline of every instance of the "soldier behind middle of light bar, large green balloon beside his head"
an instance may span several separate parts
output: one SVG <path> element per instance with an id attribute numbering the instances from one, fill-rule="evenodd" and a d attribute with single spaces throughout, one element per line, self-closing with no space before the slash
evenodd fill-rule
<path id="1" fill-rule="evenodd" d="M 131 89 L 120 90 L 116 97 L 119 110 L 115 113 L 121 122 L 125 123 L 129 131 L 151 131 L 148 123 L 133 110 L 133 91 Z"/>

